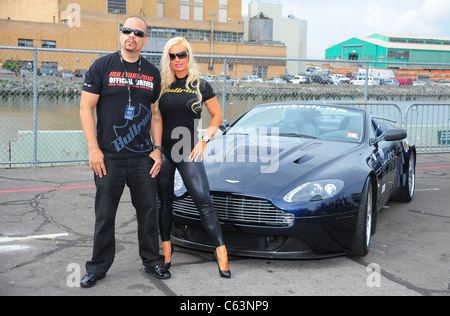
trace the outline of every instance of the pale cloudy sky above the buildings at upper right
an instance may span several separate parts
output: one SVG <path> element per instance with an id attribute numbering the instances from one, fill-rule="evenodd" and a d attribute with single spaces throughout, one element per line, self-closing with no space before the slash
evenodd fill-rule
<path id="1" fill-rule="evenodd" d="M 248 15 L 251 1 L 254 0 L 242 0 L 244 16 Z M 308 58 L 324 58 L 328 47 L 374 33 L 450 38 L 450 0 L 279 2 L 283 5 L 283 16 L 293 14 L 308 21 Z"/>

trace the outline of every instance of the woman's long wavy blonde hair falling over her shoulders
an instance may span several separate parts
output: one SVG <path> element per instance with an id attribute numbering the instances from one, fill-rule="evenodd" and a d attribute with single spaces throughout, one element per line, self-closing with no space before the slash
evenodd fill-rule
<path id="1" fill-rule="evenodd" d="M 175 71 L 170 67 L 169 51 L 177 44 L 181 44 L 186 47 L 186 51 L 189 53 L 188 74 L 189 77 L 186 80 L 186 89 L 194 89 L 197 92 L 197 101 L 191 106 L 192 111 L 195 113 L 202 107 L 202 94 L 200 93 L 200 69 L 195 61 L 191 44 L 183 37 L 174 37 L 170 39 L 164 47 L 164 52 L 161 58 L 161 96 L 166 93 L 170 85 L 176 81 Z M 159 105 L 159 100 L 158 100 Z"/>

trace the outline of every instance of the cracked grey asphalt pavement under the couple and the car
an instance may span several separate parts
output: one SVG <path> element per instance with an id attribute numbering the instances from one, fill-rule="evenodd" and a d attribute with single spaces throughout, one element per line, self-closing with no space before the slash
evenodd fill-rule
<path id="1" fill-rule="evenodd" d="M 92 254 L 95 188 L 89 167 L 0 169 L 0 295 L 450 296 L 450 154 L 419 155 L 417 167 L 414 200 L 390 202 L 381 211 L 366 257 L 231 256 L 231 279 L 219 277 L 212 253 L 177 246 L 171 279 L 146 274 L 125 190 L 114 264 L 91 289 L 79 287 Z"/>

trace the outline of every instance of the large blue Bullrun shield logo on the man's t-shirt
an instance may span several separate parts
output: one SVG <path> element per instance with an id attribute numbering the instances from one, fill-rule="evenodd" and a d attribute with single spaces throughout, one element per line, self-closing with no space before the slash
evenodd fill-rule
<path id="1" fill-rule="evenodd" d="M 133 142 L 133 140 L 148 126 L 152 118 L 152 112 L 144 105 L 139 104 L 138 113 L 134 115 L 133 120 L 127 121 L 124 126 L 114 126 L 114 133 L 116 139 L 112 142 L 117 152 L 122 151 L 124 148 L 135 153 L 148 152 L 151 149 L 150 140 L 147 139 L 145 143 Z M 141 121 L 136 121 L 136 118 L 140 118 Z M 148 132 L 148 131 L 147 131 Z"/>

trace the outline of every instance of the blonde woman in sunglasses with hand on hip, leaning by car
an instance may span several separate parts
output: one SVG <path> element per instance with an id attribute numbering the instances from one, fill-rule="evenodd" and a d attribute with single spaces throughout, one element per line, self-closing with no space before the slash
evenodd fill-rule
<path id="1" fill-rule="evenodd" d="M 197 140 L 197 127 L 202 104 L 212 116 L 202 139 Z M 174 177 L 178 169 L 183 182 L 198 208 L 202 225 L 216 247 L 215 258 L 221 277 L 231 277 L 222 228 L 212 205 L 209 183 L 202 162 L 209 140 L 223 121 L 219 102 L 211 85 L 200 78 L 192 48 L 184 38 L 169 40 L 161 59 L 161 97 L 158 109 L 163 120 L 163 162 L 158 178 L 159 229 L 165 266 L 170 268 L 172 245 L 172 204 Z"/>

